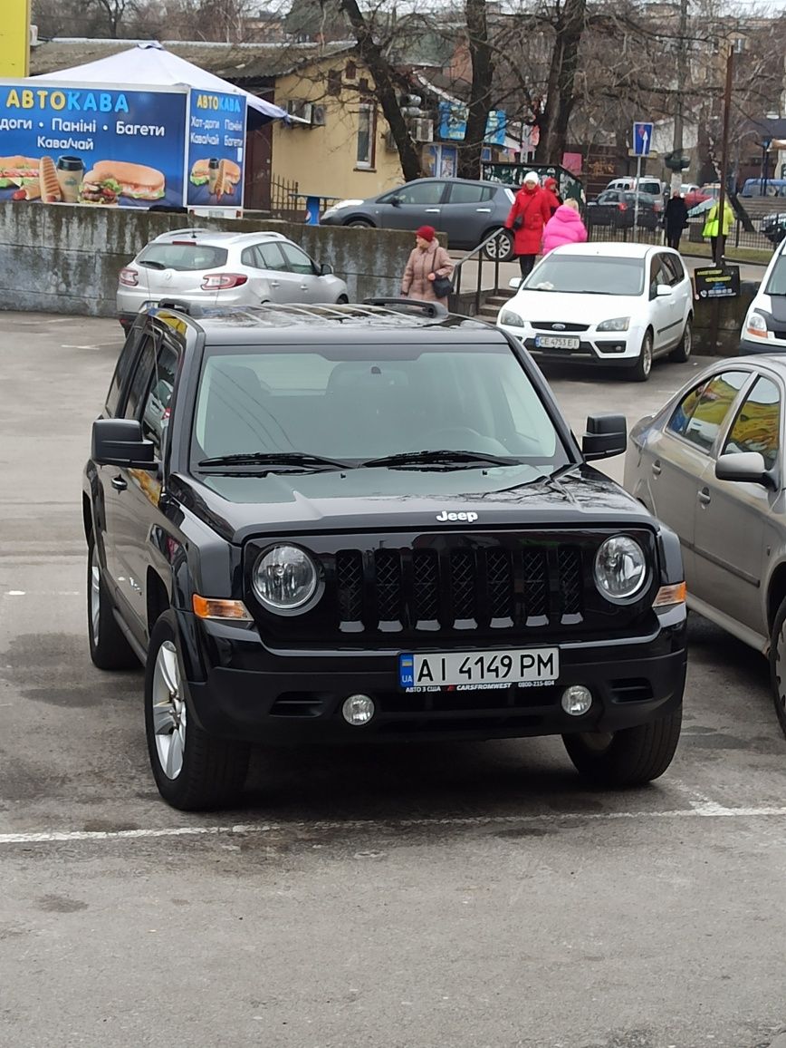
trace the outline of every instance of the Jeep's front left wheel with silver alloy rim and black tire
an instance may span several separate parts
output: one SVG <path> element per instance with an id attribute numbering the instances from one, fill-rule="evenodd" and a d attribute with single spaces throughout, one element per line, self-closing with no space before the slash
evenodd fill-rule
<path id="1" fill-rule="evenodd" d="M 243 789 L 250 749 L 203 732 L 189 708 L 173 611 L 153 628 L 144 668 L 144 725 L 153 778 L 173 808 L 230 805 Z"/>

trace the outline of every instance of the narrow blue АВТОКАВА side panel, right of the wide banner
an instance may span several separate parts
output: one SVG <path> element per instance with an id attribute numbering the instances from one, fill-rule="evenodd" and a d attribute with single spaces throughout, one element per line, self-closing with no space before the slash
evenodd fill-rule
<path id="1" fill-rule="evenodd" d="M 246 99 L 219 91 L 190 92 L 186 204 L 243 206 Z"/>

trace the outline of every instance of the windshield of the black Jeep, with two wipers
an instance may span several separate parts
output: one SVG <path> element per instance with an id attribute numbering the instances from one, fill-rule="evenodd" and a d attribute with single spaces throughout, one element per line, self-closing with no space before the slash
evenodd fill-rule
<path id="1" fill-rule="evenodd" d="M 523 461 L 539 474 L 570 461 L 507 346 L 205 350 L 195 466 L 293 452 L 352 466 L 429 451 Z"/>

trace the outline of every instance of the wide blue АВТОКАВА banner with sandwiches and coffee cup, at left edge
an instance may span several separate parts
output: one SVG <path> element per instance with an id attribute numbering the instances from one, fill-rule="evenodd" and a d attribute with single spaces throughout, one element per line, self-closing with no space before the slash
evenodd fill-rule
<path id="1" fill-rule="evenodd" d="M 0 200 L 182 205 L 185 91 L 0 82 Z"/>

